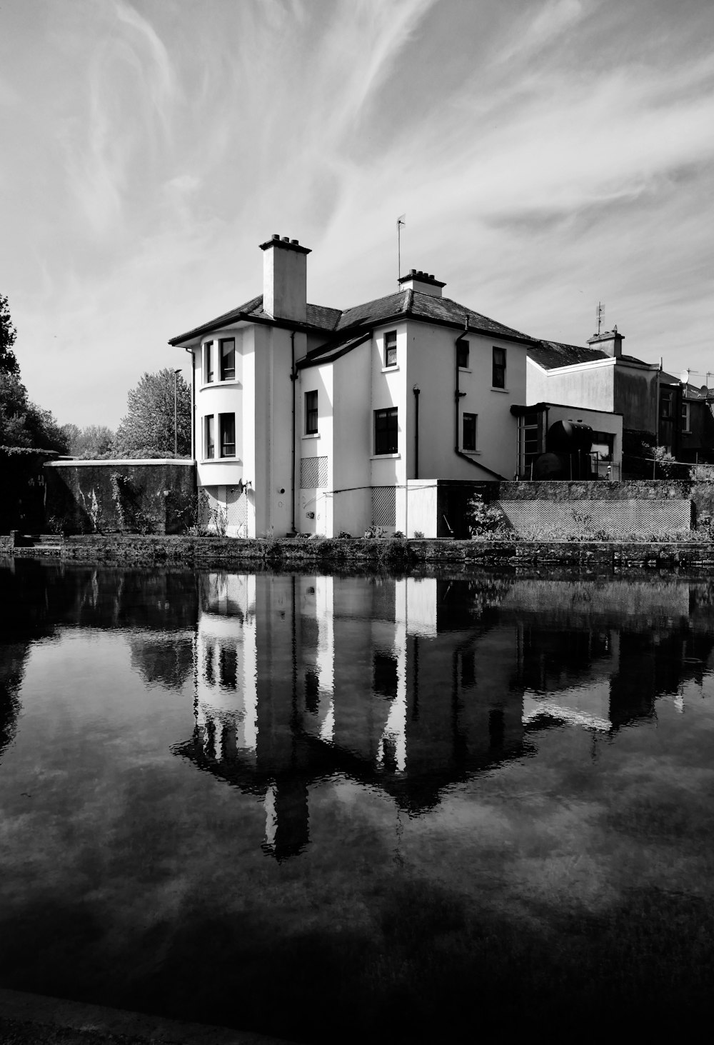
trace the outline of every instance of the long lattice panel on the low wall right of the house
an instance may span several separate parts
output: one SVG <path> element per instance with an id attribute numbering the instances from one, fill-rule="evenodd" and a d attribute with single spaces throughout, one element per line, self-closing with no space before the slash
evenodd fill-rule
<path id="1" fill-rule="evenodd" d="M 514 530 L 533 537 L 657 537 L 672 530 L 689 530 L 689 501 L 499 501 Z"/>

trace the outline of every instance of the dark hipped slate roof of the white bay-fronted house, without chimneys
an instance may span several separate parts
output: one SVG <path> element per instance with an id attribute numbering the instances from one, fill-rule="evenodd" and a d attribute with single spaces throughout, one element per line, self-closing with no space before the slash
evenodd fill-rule
<path id="1" fill-rule="evenodd" d="M 339 308 L 327 308 L 324 305 L 307 306 L 307 318 L 305 323 L 291 323 L 279 321 L 281 326 L 299 327 L 303 330 L 314 330 L 327 335 L 337 331 L 355 331 L 364 327 L 374 327 L 379 323 L 386 323 L 389 320 L 416 319 L 430 323 L 451 326 L 463 329 L 465 321 L 469 321 L 469 329 L 478 333 L 489 333 L 497 338 L 504 338 L 507 341 L 524 342 L 528 345 L 534 344 L 533 339 L 513 327 L 504 326 L 495 320 L 475 312 L 466 305 L 459 305 L 450 298 L 435 298 L 430 294 L 422 294 L 419 291 L 397 291 L 388 294 L 384 298 L 377 298 L 367 301 L 363 305 L 355 305 L 354 308 L 347 308 L 341 311 Z M 252 298 L 245 304 L 233 308 L 230 312 L 223 312 L 208 323 L 187 330 L 186 333 L 171 338 L 169 345 L 180 345 L 189 338 L 197 338 L 204 333 L 210 333 L 220 327 L 229 326 L 231 323 L 240 320 L 253 320 L 254 322 L 276 322 L 270 316 L 263 311 L 263 297 Z M 332 346 L 325 346 L 327 349 Z M 604 354 L 604 353 L 603 353 Z"/>

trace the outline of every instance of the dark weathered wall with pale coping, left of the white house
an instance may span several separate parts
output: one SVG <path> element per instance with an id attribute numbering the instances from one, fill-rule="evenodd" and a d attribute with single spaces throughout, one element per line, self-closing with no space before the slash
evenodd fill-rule
<path id="1" fill-rule="evenodd" d="M 68 532 L 119 531 L 124 526 L 114 496 L 112 475 L 128 481 L 132 512 L 142 513 L 156 533 L 177 533 L 195 503 L 193 461 L 52 461 L 44 466 L 45 526 Z M 188 513 L 187 513 L 188 509 Z"/>

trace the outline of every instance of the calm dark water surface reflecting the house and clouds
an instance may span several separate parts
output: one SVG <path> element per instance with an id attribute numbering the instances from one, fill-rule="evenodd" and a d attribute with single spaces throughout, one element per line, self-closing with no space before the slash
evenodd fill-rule
<path id="1" fill-rule="evenodd" d="M 0 560 L 0 984 L 308 1042 L 711 1016 L 713 603 Z"/>

